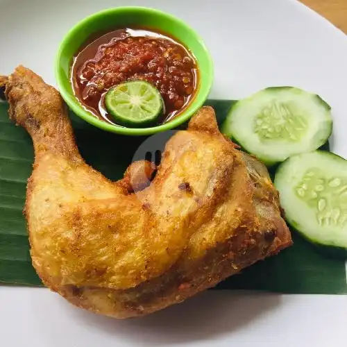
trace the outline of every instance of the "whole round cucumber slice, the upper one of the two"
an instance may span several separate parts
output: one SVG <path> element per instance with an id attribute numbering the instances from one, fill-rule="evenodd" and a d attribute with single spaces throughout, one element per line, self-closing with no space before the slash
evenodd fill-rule
<path id="1" fill-rule="evenodd" d="M 295 87 L 269 87 L 232 106 L 221 130 L 268 166 L 314 151 L 332 132 L 331 108 Z"/>

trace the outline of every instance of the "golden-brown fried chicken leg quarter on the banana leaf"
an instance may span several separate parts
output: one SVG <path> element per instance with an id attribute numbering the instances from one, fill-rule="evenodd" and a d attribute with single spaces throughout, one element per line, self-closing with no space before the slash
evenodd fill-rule
<path id="1" fill-rule="evenodd" d="M 151 184 L 149 162 L 113 183 L 81 158 L 53 87 L 24 67 L 0 81 L 35 148 L 25 206 L 33 266 L 74 305 L 149 314 L 291 245 L 266 168 L 221 135 L 212 108 L 169 139 Z"/>

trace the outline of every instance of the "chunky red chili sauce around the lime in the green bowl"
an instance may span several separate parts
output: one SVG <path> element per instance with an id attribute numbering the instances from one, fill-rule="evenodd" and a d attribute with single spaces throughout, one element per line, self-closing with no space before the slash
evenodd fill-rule
<path id="1" fill-rule="evenodd" d="M 194 98 L 198 87 L 196 60 L 171 37 L 142 29 L 119 29 L 85 44 L 74 58 L 71 83 L 86 110 L 115 124 L 103 98 L 119 83 L 144 80 L 164 100 L 158 124 L 176 117 Z"/>

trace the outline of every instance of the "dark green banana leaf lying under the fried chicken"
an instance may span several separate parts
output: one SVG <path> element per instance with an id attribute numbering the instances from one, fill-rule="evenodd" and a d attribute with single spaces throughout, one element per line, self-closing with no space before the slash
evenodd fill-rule
<path id="1" fill-rule="evenodd" d="M 219 123 L 235 101 L 209 100 Z M 33 146 L 22 128 L 8 120 L 0 103 L 0 283 L 41 286 L 31 266 L 26 221 L 22 214 Z M 111 180 L 121 178 L 146 137 L 124 137 L 94 128 L 71 114 L 76 141 L 88 164 Z M 183 126 L 184 128 L 184 126 Z M 158 149 L 171 135 L 163 134 Z M 325 146 L 328 150 L 328 146 Z M 139 158 L 136 158 L 139 159 Z M 272 173 L 273 174 L 273 173 Z M 322 253 L 293 231 L 294 246 L 250 266 L 215 289 L 252 289 L 301 294 L 347 294 L 344 260 Z"/>

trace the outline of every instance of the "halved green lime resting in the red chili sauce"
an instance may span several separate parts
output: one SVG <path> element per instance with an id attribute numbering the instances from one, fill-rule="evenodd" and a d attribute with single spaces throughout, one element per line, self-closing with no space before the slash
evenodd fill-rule
<path id="1" fill-rule="evenodd" d="M 105 107 L 117 123 L 135 128 L 153 124 L 164 102 L 157 88 L 139 80 L 112 87 L 105 95 Z"/>

